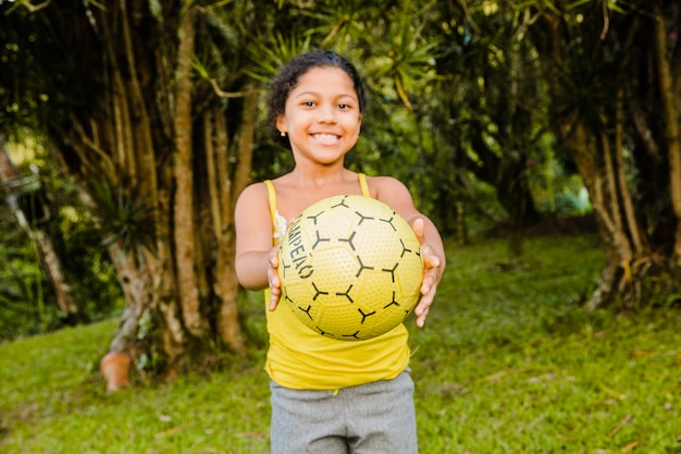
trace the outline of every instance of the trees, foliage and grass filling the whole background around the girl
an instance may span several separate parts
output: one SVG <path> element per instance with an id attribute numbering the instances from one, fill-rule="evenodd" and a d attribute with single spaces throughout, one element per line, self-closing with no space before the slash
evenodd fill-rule
<path id="1" fill-rule="evenodd" d="M 267 81 L 324 47 L 372 95 L 348 165 L 405 181 L 447 237 L 437 312 L 412 327 L 423 451 L 681 452 L 680 14 L 0 0 L 0 155 L 16 164 L 0 170 L 42 182 L 0 194 L 1 447 L 265 452 L 262 311 L 231 269 L 232 206 L 290 164 L 259 122 Z M 34 195 L 49 219 L 12 205 Z M 599 236 L 523 244 L 574 216 Z M 504 240 L 478 243 L 488 232 Z M 138 372 L 120 395 L 98 377 L 108 351 Z"/>

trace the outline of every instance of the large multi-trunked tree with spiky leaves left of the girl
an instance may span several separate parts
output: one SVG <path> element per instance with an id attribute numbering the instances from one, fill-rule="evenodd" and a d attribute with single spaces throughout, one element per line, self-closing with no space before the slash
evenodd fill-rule
<path id="1" fill-rule="evenodd" d="M 247 184 L 258 91 L 249 2 L 0 3 L 9 114 L 45 134 L 99 220 L 127 302 L 110 345 L 173 377 L 243 349 L 233 205 Z"/>

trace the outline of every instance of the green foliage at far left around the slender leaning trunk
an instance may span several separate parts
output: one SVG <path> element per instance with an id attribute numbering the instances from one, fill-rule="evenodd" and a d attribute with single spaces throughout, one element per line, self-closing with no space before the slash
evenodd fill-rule
<path id="1" fill-rule="evenodd" d="M 99 228 L 78 201 L 73 182 L 39 145 L 30 140 L 24 155 L 17 158 L 21 174 L 29 174 L 29 164 L 40 169 L 50 213 L 40 228 L 61 258 L 82 321 L 111 317 L 120 311 L 123 297 Z M 0 200 L 4 200 L 1 192 Z M 38 246 L 4 203 L 0 204 L 0 339 L 62 328 L 65 320 Z"/>

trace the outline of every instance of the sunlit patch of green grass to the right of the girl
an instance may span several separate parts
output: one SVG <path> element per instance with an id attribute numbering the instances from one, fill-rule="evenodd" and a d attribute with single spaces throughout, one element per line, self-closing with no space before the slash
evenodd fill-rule
<path id="1" fill-rule="evenodd" d="M 412 330 L 424 452 L 681 452 L 678 312 L 582 311 L 593 238 L 536 238 L 518 263 L 478 249 Z"/>

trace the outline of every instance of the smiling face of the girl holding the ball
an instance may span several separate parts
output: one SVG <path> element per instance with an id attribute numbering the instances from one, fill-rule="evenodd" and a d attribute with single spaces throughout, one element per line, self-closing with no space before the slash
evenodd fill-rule
<path id="1" fill-rule="evenodd" d="M 313 68 L 288 94 L 276 121 L 287 133 L 297 163 L 329 165 L 343 161 L 359 137 L 362 115 L 352 79 L 338 68 Z"/>

